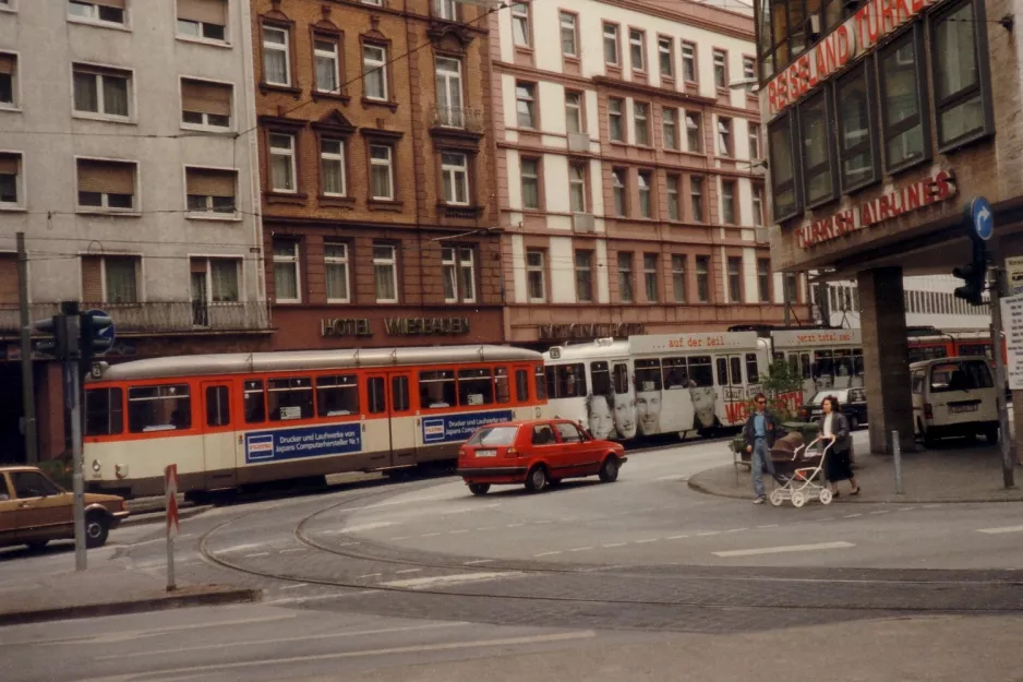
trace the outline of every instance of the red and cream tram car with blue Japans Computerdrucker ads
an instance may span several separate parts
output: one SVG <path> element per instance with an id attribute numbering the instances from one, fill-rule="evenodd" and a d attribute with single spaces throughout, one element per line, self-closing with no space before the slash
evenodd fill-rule
<path id="1" fill-rule="evenodd" d="M 180 356 L 85 386 L 91 490 L 161 494 L 454 460 L 480 426 L 547 416 L 539 352 L 436 346 Z"/>

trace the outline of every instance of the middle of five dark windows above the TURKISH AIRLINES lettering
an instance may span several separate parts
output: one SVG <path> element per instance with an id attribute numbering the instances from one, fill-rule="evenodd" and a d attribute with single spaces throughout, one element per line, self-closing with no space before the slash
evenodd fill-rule
<path id="1" fill-rule="evenodd" d="M 869 184 L 877 177 L 877 158 L 870 135 L 874 98 L 869 77 L 866 65 L 860 64 L 835 85 L 843 193 Z"/>

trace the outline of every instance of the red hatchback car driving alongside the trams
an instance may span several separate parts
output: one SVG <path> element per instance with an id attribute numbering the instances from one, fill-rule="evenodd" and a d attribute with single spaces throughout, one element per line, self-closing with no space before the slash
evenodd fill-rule
<path id="1" fill-rule="evenodd" d="M 625 448 L 598 441 L 565 419 L 508 421 L 480 427 L 458 451 L 458 470 L 474 495 L 490 487 L 525 483 L 531 492 L 566 478 L 600 476 L 610 483 L 625 464 Z"/>

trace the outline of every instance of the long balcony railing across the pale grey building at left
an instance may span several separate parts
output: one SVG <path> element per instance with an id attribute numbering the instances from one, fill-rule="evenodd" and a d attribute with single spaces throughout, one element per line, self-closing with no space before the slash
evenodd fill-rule
<path id="1" fill-rule="evenodd" d="M 80 303 L 82 310 L 105 310 L 118 335 L 169 333 L 257 332 L 269 328 L 266 301 L 206 303 L 201 301 L 147 301 L 142 303 Z M 32 303 L 33 321 L 56 315 L 59 303 Z M 17 334 L 16 303 L 0 303 L 0 334 Z"/>

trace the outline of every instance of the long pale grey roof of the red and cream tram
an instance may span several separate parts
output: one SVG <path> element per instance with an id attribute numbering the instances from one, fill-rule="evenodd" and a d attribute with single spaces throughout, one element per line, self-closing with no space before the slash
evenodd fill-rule
<path id="1" fill-rule="evenodd" d="M 99 381 L 132 381 L 166 376 L 310 371 L 359 367 L 446 364 L 449 362 L 520 362 L 541 359 L 540 354 L 534 350 L 482 345 L 229 352 L 170 356 L 111 364 L 103 368 Z"/>

